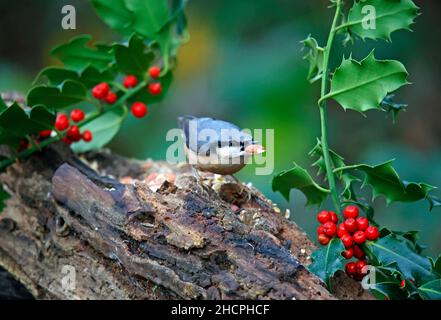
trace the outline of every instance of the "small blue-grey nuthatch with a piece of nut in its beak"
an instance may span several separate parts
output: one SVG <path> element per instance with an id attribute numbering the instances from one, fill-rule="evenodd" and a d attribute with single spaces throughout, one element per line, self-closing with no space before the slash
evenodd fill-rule
<path id="1" fill-rule="evenodd" d="M 265 149 L 236 125 L 212 118 L 184 116 L 178 124 L 189 163 L 200 171 L 232 175 Z"/>

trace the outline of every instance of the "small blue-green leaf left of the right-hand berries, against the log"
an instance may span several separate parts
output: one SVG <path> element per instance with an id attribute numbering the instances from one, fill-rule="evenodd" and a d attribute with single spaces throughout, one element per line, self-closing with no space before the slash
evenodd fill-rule
<path id="1" fill-rule="evenodd" d="M 328 287 L 330 280 L 339 270 L 344 270 L 345 258 L 341 253 L 345 251 L 343 243 L 338 238 L 332 238 L 328 245 L 320 247 L 311 254 L 312 263 L 308 270 L 325 282 Z"/>

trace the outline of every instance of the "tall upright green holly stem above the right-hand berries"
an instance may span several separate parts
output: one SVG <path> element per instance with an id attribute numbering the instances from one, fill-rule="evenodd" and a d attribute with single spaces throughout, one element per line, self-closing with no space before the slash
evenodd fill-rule
<path id="1" fill-rule="evenodd" d="M 341 213 L 340 200 L 338 196 L 337 187 L 335 184 L 335 176 L 333 173 L 333 165 L 331 163 L 331 157 L 329 153 L 328 147 L 328 134 L 327 134 L 327 123 L 326 123 L 326 101 L 322 100 L 326 95 L 327 86 L 329 81 L 329 57 L 331 55 L 332 44 L 334 42 L 334 37 L 336 33 L 337 21 L 340 16 L 342 2 L 341 0 L 337 0 L 334 20 L 332 22 L 331 31 L 329 32 L 328 41 L 324 50 L 323 55 L 323 75 L 322 75 L 322 84 L 321 84 L 321 93 L 319 100 L 319 109 L 320 109 L 320 123 L 321 123 L 321 143 L 323 149 L 323 158 L 325 160 L 326 167 L 326 175 L 328 177 L 329 189 L 331 190 L 331 198 L 334 203 L 335 210 L 337 214 Z"/>

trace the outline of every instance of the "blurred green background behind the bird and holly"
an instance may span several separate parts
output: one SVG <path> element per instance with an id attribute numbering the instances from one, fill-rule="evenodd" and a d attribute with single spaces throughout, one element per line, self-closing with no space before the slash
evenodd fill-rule
<path id="1" fill-rule="evenodd" d="M 397 100 L 407 103 L 408 111 L 393 124 L 381 112 L 369 112 L 366 119 L 331 105 L 329 138 L 348 162 L 376 164 L 396 158 L 402 178 L 441 187 L 441 3 L 416 3 L 423 14 L 414 32 L 394 33 L 391 44 L 358 41 L 343 49 L 337 42 L 332 61 L 337 66 L 342 54 L 350 52 L 363 58 L 374 46 L 378 58 L 401 60 L 413 85 L 399 90 Z M 76 30 L 61 29 L 61 7 L 66 4 L 77 10 Z M 179 52 L 170 94 L 150 108 L 147 118 L 128 119 L 109 147 L 130 157 L 164 159 L 169 146 L 165 134 L 176 126 L 176 117 L 206 115 L 241 127 L 275 129 L 275 173 L 290 168 L 292 161 L 309 167 L 307 153 L 320 134 L 319 87 L 305 79 L 307 63 L 299 42 L 311 34 L 323 45 L 332 18 L 328 4 L 328 0 L 190 1 L 191 41 Z M 37 72 L 55 63 L 50 48 L 83 33 L 99 41 L 120 39 L 87 0 L 0 0 L 0 91 L 26 92 Z M 255 176 L 254 169 L 249 166 L 238 177 L 252 182 L 282 212 L 289 208 L 292 219 L 315 235 L 317 208 L 305 208 L 305 198 L 296 191 L 287 203 L 271 191 L 272 176 Z M 425 202 L 386 207 L 382 198 L 374 205 L 382 225 L 422 230 L 427 253 L 441 251 L 441 209 L 429 213 Z M 324 207 L 332 208 L 330 203 Z"/>

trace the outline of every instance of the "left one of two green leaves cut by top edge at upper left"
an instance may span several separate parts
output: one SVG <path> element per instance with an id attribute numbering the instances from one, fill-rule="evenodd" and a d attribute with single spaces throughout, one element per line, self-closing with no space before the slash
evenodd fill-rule
<path id="1" fill-rule="evenodd" d="M 127 6 L 125 0 L 91 0 L 98 16 L 110 28 L 129 36 L 133 33 L 134 15 Z"/>

